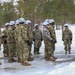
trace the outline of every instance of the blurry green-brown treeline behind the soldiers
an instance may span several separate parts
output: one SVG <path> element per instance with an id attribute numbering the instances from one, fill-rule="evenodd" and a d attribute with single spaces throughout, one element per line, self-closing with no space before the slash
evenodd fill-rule
<path id="1" fill-rule="evenodd" d="M 0 25 L 20 17 L 33 22 L 54 18 L 56 24 L 75 23 L 74 0 L 18 0 L 0 3 Z"/>

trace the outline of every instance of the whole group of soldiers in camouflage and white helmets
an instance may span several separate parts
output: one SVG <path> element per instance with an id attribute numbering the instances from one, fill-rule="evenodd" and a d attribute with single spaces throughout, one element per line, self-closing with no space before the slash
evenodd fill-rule
<path id="1" fill-rule="evenodd" d="M 30 20 L 20 18 L 15 21 L 10 21 L 5 24 L 5 29 L 0 34 L 0 42 L 3 43 L 4 57 L 8 57 L 8 62 L 19 62 L 24 66 L 30 66 L 28 61 L 33 61 L 31 48 L 34 42 L 34 55 L 40 54 L 39 50 L 41 43 L 44 40 L 45 44 L 45 60 L 55 61 L 54 56 L 56 33 L 54 29 L 54 19 L 46 19 L 43 25 L 43 31 L 39 29 L 39 24 L 34 25 L 32 29 Z M 64 41 L 65 54 L 69 51 L 71 54 L 72 32 L 65 24 L 65 30 L 62 33 L 62 40 Z M 17 60 L 14 57 L 17 56 Z"/>

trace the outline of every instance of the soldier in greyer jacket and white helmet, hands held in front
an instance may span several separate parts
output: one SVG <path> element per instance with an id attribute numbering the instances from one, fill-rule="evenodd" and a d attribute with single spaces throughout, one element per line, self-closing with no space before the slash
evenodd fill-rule
<path id="1" fill-rule="evenodd" d="M 45 44 L 45 60 L 49 61 L 55 61 L 55 59 L 53 59 L 53 55 L 52 55 L 52 43 L 53 39 L 50 36 L 49 33 L 49 23 L 48 22 L 44 22 L 43 23 L 43 38 L 44 38 L 44 44 Z"/>

